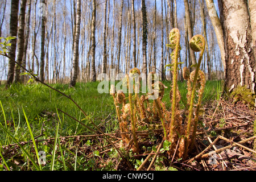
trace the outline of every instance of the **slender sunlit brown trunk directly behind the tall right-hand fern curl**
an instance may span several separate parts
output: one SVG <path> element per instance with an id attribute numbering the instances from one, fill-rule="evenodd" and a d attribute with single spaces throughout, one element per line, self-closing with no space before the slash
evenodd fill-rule
<path id="1" fill-rule="evenodd" d="M 188 0 L 184 0 L 184 5 L 185 5 L 186 23 L 187 23 L 187 28 L 188 28 L 188 39 L 190 40 L 193 36 L 192 35 L 193 30 L 192 30 L 192 26 L 191 26 L 191 16 L 190 16 L 190 11 L 189 11 L 189 6 L 188 6 Z M 196 64 L 195 52 L 190 47 L 189 47 L 189 53 L 190 53 L 190 56 L 191 56 L 192 64 Z"/>

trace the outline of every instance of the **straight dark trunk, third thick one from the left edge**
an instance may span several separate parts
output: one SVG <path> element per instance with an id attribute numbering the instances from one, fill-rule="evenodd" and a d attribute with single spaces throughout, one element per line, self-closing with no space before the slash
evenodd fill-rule
<path id="1" fill-rule="evenodd" d="M 43 0 L 42 3 L 46 5 L 46 0 Z M 44 41 L 46 38 L 46 16 L 42 16 L 41 24 L 41 56 L 40 56 L 40 80 L 44 81 Z"/>

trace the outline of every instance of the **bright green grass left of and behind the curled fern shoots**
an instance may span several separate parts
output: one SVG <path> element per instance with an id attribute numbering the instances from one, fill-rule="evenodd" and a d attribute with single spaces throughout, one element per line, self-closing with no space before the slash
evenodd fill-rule
<path id="1" fill-rule="evenodd" d="M 69 88 L 64 84 L 52 84 L 53 88 L 59 89 L 81 106 L 88 114 L 88 118 L 104 132 L 112 132 L 119 128 L 113 98 L 110 94 L 100 94 L 97 91 L 99 82 L 77 83 L 74 88 Z M 167 109 L 170 109 L 169 98 L 170 82 L 164 81 L 168 86 L 165 90 L 163 101 L 166 102 Z M 220 96 L 221 81 L 207 81 L 203 97 L 203 103 L 216 100 Z M 186 83 L 178 82 L 181 94 L 181 107 L 186 103 Z M 106 140 L 97 139 L 81 140 L 85 146 L 92 150 L 91 157 L 88 154 L 77 151 L 77 139 L 64 139 L 61 137 L 74 135 L 95 134 L 86 129 L 80 123 L 64 115 L 57 109 L 63 110 L 72 117 L 83 122 L 86 126 L 94 129 L 88 122 L 88 118 L 81 111 L 61 94 L 47 88 L 42 84 L 13 84 L 10 89 L 0 86 L 0 143 L 7 146 L 7 149 L 0 150 L 0 169 L 4 170 L 97 170 L 95 164 L 102 161 L 104 156 L 93 148 L 95 143 L 107 144 Z M 95 129 L 94 129 L 95 130 Z M 55 140 L 46 140 L 48 138 Z M 29 142 L 30 144 L 20 144 L 19 142 Z M 10 144 L 19 143 L 18 149 Z M 8 155 L 5 151 L 13 151 L 15 155 Z M 38 165 L 38 161 L 43 158 L 40 151 L 44 151 L 47 161 L 46 165 Z M 115 156 L 115 150 L 109 152 L 109 156 Z M 113 157 L 114 158 L 114 157 Z M 4 167 L 5 166 L 5 167 Z M 108 162 L 105 170 L 114 169 L 114 164 Z"/>

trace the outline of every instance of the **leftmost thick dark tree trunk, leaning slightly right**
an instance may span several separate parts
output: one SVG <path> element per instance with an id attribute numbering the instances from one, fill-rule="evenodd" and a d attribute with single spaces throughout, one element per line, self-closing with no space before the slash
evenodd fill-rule
<path id="1" fill-rule="evenodd" d="M 18 11 L 19 0 L 11 0 L 11 17 L 10 17 L 10 36 L 17 36 L 18 30 Z M 9 56 L 13 59 L 16 57 L 16 39 L 10 40 L 11 47 L 9 49 Z M 15 63 L 9 59 L 8 75 L 6 86 L 9 86 L 13 82 Z"/>

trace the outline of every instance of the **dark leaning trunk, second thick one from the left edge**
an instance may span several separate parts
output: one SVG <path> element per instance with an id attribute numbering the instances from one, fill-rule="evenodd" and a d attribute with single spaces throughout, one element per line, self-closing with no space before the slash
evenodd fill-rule
<path id="1" fill-rule="evenodd" d="M 31 13 L 31 0 L 28 0 L 28 11 L 27 11 L 27 20 L 26 20 L 26 35 L 25 35 L 25 42 L 24 42 L 24 50 L 23 50 L 23 57 L 22 57 L 22 65 L 26 67 L 26 59 L 27 59 L 27 47 L 28 47 L 28 38 L 30 36 L 30 13 Z M 1 36 L 1 35 L 0 35 Z M 22 69 L 22 72 L 24 70 Z M 20 81 L 24 83 L 25 76 L 20 76 Z"/>

